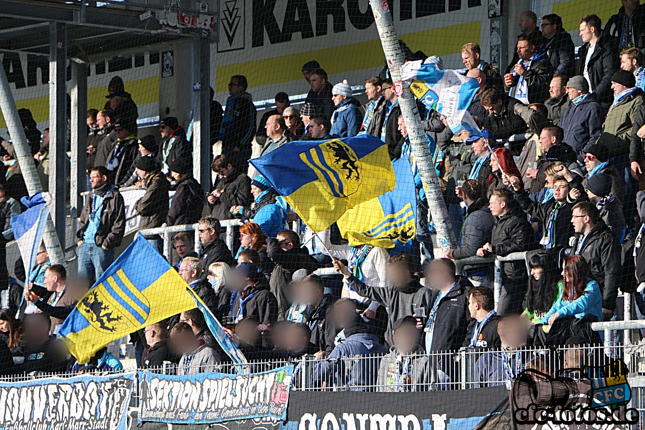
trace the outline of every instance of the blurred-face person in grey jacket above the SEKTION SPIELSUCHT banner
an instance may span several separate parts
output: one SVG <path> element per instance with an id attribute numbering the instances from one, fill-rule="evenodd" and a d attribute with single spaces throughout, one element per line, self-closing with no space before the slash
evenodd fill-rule
<path id="1" fill-rule="evenodd" d="M 177 374 L 184 376 L 215 371 L 219 355 L 208 343 L 201 342 L 190 324 L 181 321 L 176 323 L 170 331 L 170 340 L 177 351 L 183 354 L 177 365 Z"/>

